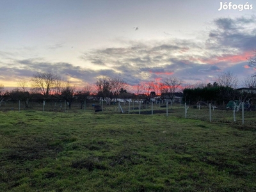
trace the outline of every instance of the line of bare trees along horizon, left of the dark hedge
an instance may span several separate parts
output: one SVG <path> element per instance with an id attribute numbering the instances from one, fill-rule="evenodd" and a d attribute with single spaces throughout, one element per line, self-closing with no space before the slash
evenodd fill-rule
<path id="1" fill-rule="evenodd" d="M 121 99 L 144 100 L 149 102 L 159 94 L 165 98 L 173 99 L 175 92 L 182 92 L 182 81 L 177 77 L 164 78 L 161 83 L 154 81 L 139 83 L 129 87 L 121 76 L 100 76 L 93 85 L 86 85 L 78 88 L 76 85 L 61 79 L 58 74 L 52 72 L 37 72 L 30 79 L 20 79 L 18 88 L 11 91 L 4 90 L 0 84 L 0 105 L 1 102 L 20 100 L 26 108 L 29 108 L 31 100 L 43 101 L 54 100 L 55 102 L 66 101 L 71 108 L 74 100 L 81 102 L 88 97 L 102 98 L 107 104 L 111 100 Z"/>

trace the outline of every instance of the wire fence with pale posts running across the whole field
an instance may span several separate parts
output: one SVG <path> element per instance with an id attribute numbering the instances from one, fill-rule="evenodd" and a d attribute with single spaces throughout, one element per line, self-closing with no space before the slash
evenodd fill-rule
<path id="1" fill-rule="evenodd" d="M 211 106 L 211 104 L 210 104 Z M 99 113 L 124 113 L 124 114 L 137 114 L 137 115 L 164 115 L 164 116 L 176 116 L 179 118 L 189 118 L 195 120 L 204 120 L 209 122 L 229 122 L 241 125 L 250 125 L 256 127 L 256 111 L 255 106 L 251 106 L 249 109 L 227 109 L 224 105 L 209 108 L 209 106 L 198 106 L 182 103 L 143 103 L 143 102 L 112 102 L 106 104 L 106 102 L 99 102 L 97 100 L 89 100 L 84 102 L 30 102 L 28 107 L 26 103 L 22 101 L 8 101 L 2 102 L 0 111 L 43 111 L 56 112 L 56 113 L 83 113 L 92 112 Z M 211 110 L 210 110 L 211 109 Z"/>

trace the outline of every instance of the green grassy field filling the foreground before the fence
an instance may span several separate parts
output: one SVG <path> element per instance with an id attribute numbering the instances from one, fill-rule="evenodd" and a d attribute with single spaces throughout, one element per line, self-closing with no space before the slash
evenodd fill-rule
<path id="1" fill-rule="evenodd" d="M 256 191 L 255 113 L 207 111 L 0 111 L 0 191 Z"/>

